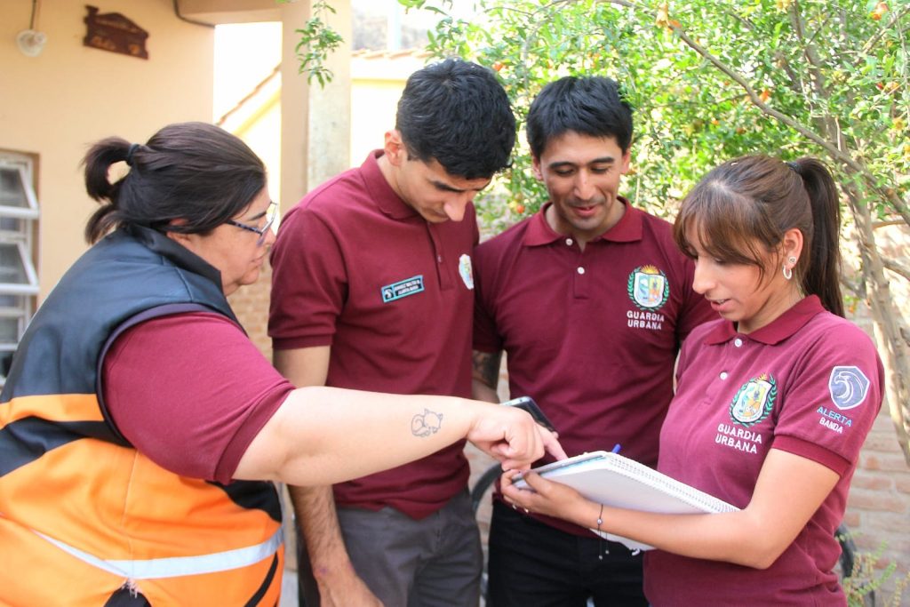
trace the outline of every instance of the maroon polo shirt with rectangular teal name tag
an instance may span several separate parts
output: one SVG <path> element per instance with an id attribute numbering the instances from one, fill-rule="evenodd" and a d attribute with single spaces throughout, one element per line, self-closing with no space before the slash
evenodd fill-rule
<path id="1" fill-rule="evenodd" d="M 474 207 L 460 222 L 427 222 L 389 187 L 381 153 L 309 193 L 281 222 L 272 344 L 330 346 L 329 386 L 470 396 Z M 463 446 L 336 485 L 335 500 L 425 517 L 464 488 Z"/>

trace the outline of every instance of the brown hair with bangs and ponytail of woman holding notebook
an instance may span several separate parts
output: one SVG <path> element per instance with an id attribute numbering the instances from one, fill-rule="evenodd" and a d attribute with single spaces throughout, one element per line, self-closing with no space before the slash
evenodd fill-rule
<path id="1" fill-rule="evenodd" d="M 694 258 L 688 238 L 694 232 L 709 255 L 754 266 L 764 278 L 769 254 L 796 228 L 804 245 L 794 279 L 828 311 L 844 316 L 839 202 L 834 177 L 815 158 L 739 157 L 713 168 L 682 200 L 673 238 Z"/>

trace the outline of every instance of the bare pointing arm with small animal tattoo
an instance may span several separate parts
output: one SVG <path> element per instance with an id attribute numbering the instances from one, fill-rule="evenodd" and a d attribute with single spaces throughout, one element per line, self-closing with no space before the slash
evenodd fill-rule
<path id="1" fill-rule="evenodd" d="M 553 435 L 522 410 L 314 386 L 290 393 L 250 443 L 234 478 L 330 484 L 419 460 L 464 438 L 505 470 L 527 470 L 544 450 L 565 458 Z"/>

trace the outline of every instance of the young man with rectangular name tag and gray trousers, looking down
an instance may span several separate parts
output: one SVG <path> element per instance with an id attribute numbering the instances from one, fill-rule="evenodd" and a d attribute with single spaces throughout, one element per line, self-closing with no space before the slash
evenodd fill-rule
<path id="1" fill-rule="evenodd" d="M 410 76 L 384 147 L 282 222 L 269 334 L 288 379 L 470 396 L 471 200 L 508 166 L 514 140 L 490 70 L 450 59 Z M 434 432 L 432 420 L 415 431 Z M 300 568 L 308 607 L 320 596 L 324 606 L 477 604 L 480 539 L 462 447 L 334 491 L 291 488 L 312 569 Z"/>

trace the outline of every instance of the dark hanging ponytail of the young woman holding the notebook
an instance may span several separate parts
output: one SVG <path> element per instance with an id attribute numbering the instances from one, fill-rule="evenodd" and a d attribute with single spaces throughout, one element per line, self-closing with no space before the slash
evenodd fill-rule
<path id="1" fill-rule="evenodd" d="M 809 205 L 812 208 L 814 235 L 809 251 L 809 265 L 802 273 L 805 293 L 817 295 L 837 316 L 844 316 L 841 294 L 841 206 L 834 178 L 824 165 L 814 158 L 800 158 L 788 163 L 803 177 Z"/>

